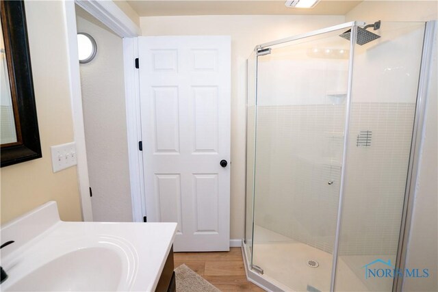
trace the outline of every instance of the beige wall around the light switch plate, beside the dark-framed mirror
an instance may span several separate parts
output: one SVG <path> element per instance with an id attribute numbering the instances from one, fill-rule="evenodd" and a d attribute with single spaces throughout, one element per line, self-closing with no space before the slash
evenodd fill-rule
<path id="1" fill-rule="evenodd" d="M 50 146 L 73 141 L 65 16 L 61 1 L 25 1 L 42 158 L 1 168 L 1 222 L 49 200 L 62 220 L 81 220 L 76 167 L 53 173 Z"/>

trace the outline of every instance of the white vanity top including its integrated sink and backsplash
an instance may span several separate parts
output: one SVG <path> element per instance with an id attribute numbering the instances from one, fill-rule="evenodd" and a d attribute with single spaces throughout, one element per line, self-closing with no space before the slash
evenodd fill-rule
<path id="1" fill-rule="evenodd" d="M 62 222 L 55 202 L 1 228 L 1 291 L 154 291 L 176 223 Z"/>

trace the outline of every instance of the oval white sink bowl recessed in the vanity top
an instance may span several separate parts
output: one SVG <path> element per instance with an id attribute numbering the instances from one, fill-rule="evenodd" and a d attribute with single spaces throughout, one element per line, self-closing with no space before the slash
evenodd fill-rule
<path id="1" fill-rule="evenodd" d="M 122 259 L 107 248 L 83 248 L 42 265 L 9 291 L 116 291 Z"/>

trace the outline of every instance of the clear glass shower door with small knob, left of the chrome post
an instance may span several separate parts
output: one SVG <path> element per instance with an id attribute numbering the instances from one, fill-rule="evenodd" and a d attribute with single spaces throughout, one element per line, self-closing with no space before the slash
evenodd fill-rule
<path id="1" fill-rule="evenodd" d="M 285 291 L 330 290 L 350 57 L 350 42 L 339 35 L 346 30 L 257 57 L 252 264 Z"/>

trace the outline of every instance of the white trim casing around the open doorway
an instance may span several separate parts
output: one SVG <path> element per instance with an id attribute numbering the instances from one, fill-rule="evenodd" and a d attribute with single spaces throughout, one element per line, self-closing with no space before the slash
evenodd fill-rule
<path id="1" fill-rule="evenodd" d="M 110 27 L 121 38 L 133 38 L 141 35 L 140 28 L 131 21 L 116 4 L 112 1 L 92 1 L 92 0 L 76 0 L 76 1 L 63 1 L 64 14 L 66 17 L 65 32 L 67 41 L 67 62 L 69 70 L 69 83 L 70 83 L 70 99 L 73 116 L 73 133 L 76 142 L 77 151 L 77 178 L 79 187 L 79 196 L 81 198 L 81 209 L 83 221 L 92 221 L 92 208 L 90 200 L 90 181 L 88 178 L 88 165 L 86 155 L 85 144 L 85 131 L 83 127 L 83 111 L 82 111 L 82 96 L 81 96 L 81 82 L 79 73 L 79 62 L 77 53 L 77 26 L 76 26 L 76 12 L 75 3 L 81 8 L 86 10 L 96 19 L 99 19 L 103 24 Z M 132 51 L 125 47 L 123 57 L 125 62 L 130 58 L 130 64 L 133 64 Z M 125 64 L 125 88 L 129 85 L 136 83 L 135 69 L 133 65 L 131 70 L 134 72 L 127 72 L 129 68 L 128 63 Z M 137 79 L 138 80 L 138 79 Z M 138 81 L 137 81 L 138 82 Z M 138 84 L 136 84 L 136 90 L 138 91 Z M 142 202 L 142 181 L 136 180 L 136 176 L 142 176 L 142 169 L 135 168 L 131 165 L 131 157 L 138 155 L 138 148 L 133 149 L 131 141 L 138 139 L 135 135 L 137 129 L 132 129 L 131 125 L 136 125 L 140 121 L 140 116 L 130 115 L 131 106 L 133 102 L 138 101 L 136 99 L 136 90 L 125 90 L 125 99 L 127 103 L 127 139 L 128 139 L 128 151 L 129 151 L 129 176 L 131 177 L 131 196 L 133 203 L 133 219 L 138 221 L 138 203 Z M 137 92 L 138 93 L 138 92 Z M 134 104 L 135 105 L 135 104 Z M 128 114 L 129 111 L 129 114 Z M 135 137 L 132 137 L 134 135 Z M 139 163 L 138 161 L 136 162 Z M 141 172 L 140 172 L 141 171 Z M 140 189 L 140 191 L 138 191 Z M 141 204 L 144 208 L 144 204 Z M 140 217 L 142 220 L 142 217 Z"/>

